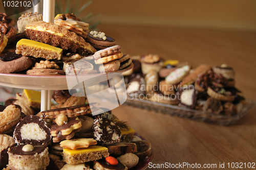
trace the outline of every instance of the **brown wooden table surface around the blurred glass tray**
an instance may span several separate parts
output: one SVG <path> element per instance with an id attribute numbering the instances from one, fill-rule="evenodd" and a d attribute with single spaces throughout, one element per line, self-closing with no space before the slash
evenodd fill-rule
<path id="1" fill-rule="evenodd" d="M 99 31 L 115 38 L 123 54 L 158 54 L 188 61 L 194 68 L 226 63 L 236 70 L 236 87 L 247 99 L 256 100 L 256 32 L 115 25 L 101 25 Z M 132 106 L 122 105 L 113 112 L 152 143 L 155 165 L 186 162 L 201 167 L 216 164 L 217 168 L 208 169 L 220 169 L 220 163 L 225 163 L 221 169 L 236 169 L 231 168 L 232 162 L 256 162 L 255 111 L 227 127 Z M 245 164 L 241 167 L 248 169 Z"/>

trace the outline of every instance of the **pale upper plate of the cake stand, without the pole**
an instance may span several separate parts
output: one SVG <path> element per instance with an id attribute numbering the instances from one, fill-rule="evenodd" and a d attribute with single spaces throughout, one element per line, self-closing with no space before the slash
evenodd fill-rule
<path id="1" fill-rule="evenodd" d="M 122 70 L 116 72 L 109 72 L 108 78 L 111 79 L 118 74 L 128 71 L 133 68 L 133 63 L 125 67 Z M 97 77 L 97 79 L 92 79 Z M 74 86 L 77 84 L 78 80 L 96 80 L 97 82 L 85 81 L 90 84 L 82 84 L 77 86 L 77 88 L 83 88 L 83 85 L 92 86 L 97 84 L 106 77 L 106 74 L 93 74 L 84 76 L 32 76 L 32 75 L 22 75 L 22 74 L 0 74 L 0 85 L 22 88 L 22 89 L 32 89 L 32 90 L 65 90 L 69 89 L 67 84 L 67 79 L 69 82 L 74 82 Z"/>

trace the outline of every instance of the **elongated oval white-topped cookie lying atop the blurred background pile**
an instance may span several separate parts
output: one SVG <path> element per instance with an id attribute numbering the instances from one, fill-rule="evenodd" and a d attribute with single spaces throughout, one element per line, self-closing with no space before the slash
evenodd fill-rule
<path id="1" fill-rule="evenodd" d="M 178 84 L 184 79 L 190 71 L 190 65 L 185 65 L 176 70 L 170 72 L 170 74 L 165 78 L 167 84 Z"/>

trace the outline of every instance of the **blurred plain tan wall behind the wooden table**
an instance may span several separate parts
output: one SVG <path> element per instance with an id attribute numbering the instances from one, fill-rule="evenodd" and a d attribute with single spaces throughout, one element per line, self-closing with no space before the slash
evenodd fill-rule
<path id="1" fill-rule="evenodd" d="M 97 0 L 88 10 L 102 23 L 256 30 L 255 0 Z"/>

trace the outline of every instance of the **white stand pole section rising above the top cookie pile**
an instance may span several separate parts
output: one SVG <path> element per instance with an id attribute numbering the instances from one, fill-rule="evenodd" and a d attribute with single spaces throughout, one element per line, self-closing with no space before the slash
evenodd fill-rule
<path id="1" fill-rule="evenodd" d="M 42 9 L 42 20 L 54 23 L 55 0 L 44 0 Z"/>

